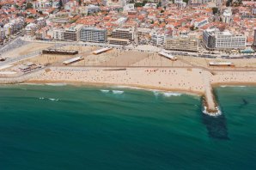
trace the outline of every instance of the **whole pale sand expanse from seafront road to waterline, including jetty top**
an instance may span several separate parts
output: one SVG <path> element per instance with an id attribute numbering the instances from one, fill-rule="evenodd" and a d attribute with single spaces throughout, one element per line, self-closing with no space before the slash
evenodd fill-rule
<path id="1" fill-rule="evenodd" d="M 22 55 L 24 52 L 34 52 L 45 49 L 51 44 L 28 44 L 9 52 Z M 216 110 L 216 100 L 212 93 L 212 86 L 256 84 L 256 59 L 222 59 L 222 58 L 195 58 L 177 56 L 177 61 L 160 56 L 157 52 L 137 52 L 112 49 L 99 55 L 92 52 L 101 47 L 96 46 L 61 46 L 64 50 L 76 50 L 82 60 L 69 66 L 63 62 L 72 55 L 40 54 L 27 58 L 14 64 L 13 67 L 3 69 L 2 77 L 6 73 L 18 71 L 20 64 L 32 62 L 34 64 L 48 65 L 40 70 L 40 74 L 29 78 L 20 78 L 26 82 L 67 82 L 93 85 L 119 85 L 137 88 L 150 88 L 165 91 L 177 91 L 186 94 L 204 96 L 210 110 Z M 210 61 L 229 61 L 235 67 L 211 67 Z"/>

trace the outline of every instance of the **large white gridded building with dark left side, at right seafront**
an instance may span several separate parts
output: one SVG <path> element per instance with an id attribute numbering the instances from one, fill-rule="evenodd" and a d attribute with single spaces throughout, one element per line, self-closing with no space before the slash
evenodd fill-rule
<path id="1" fill-rule="evenodd" d="M 219 29 L 207 29 L 203 33 L 204 46 L 209 50 L 243 49 L 246 47 L 247 37 L 241 34 L 232 34 Z"/>

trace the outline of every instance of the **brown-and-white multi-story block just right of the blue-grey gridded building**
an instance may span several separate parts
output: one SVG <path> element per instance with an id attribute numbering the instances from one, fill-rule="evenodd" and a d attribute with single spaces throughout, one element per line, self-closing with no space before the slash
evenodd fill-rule
<path id="1" fill-rule="evenodd" d="M 115 39 L 129 39 L 132 41 L 134 39 L 134 29 L 130 28 L 117 28 L 112 32 L 112 38 Z"/>

